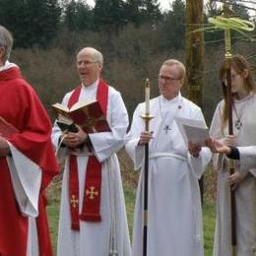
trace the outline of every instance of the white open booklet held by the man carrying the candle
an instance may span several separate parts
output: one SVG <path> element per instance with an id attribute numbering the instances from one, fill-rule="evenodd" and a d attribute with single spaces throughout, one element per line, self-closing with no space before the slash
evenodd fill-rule
<path id="1" fill-rule="evenodd" d="M 175 121 L 186 144 L 190 141 L 205 146 L 205 141 L 209 138 L 209 129 L 204 121 L 184 117 L 175 117 Z"/>

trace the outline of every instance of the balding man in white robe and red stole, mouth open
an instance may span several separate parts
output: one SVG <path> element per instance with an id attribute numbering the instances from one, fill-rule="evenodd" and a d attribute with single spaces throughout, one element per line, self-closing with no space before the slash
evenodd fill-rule
<path id="1" fill-rule="evenodd" d="M 62 132 L 55 122 L 53 144 L 64 154 L 57 254 L 130 256 L 130 239 L 116 152 L 123 147 L 128 115 L 119 92 L 100 79 L 102 54 L 83 48 L 77 54 L 81 83 L 62 104 L 96 99 L 110 131 Z M 93 109 L 94 110 L 94 109 Z M 94 111 L 92 111 L 94 114 Z M 97 129 L 97 127 L 96 127 Z M 60 145 L 59 145 L 60 144 Z"/>

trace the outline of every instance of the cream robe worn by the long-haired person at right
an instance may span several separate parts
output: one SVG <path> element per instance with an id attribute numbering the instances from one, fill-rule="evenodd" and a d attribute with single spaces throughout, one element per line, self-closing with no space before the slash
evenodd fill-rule
<path id="1" fill-rule="evenodd" d="M 235 219 L 237 256 L 255 256 L 256 253 L 256 96 L 246 96 L 234 100 L 236 113 L 233 110 L 233 130 L 236 136 L 240 160 L 235 160 L 235 171 L 247 172 L 246 178 L 235 189 Z M 224 140 L 228 134 L 226 125 L 223 127 L 221 113 L 224 108 L 222 100 L 216 109 L 210 133 L 219 140 Z M 242 126 L 237 129 L 235 123 L 240 118 Z M 250 147 L 247 147 L 250 146 Z M 230 226 L 230 188 L 227 182 L 229 176 L 228 160 L 224 155 L 214 156 L 217 169 L 217 221 L 215 232 L 215 256 L 232 256 L 231 226 Z"/>

